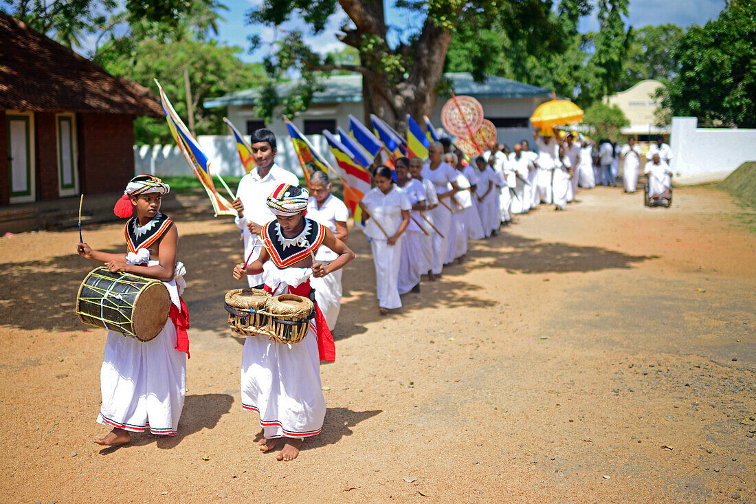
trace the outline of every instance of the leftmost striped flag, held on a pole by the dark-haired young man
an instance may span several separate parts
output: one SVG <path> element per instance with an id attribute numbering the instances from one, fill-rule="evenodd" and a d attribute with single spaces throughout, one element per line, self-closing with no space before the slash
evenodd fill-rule
<path id="1" fill-rule="evenodd" d="M 234 210 L 234 207 L 231 207 L 228 200 L 215 190 L 212 176 L 210 176 L 210 161 L 207 159 L 207 156 L 200 150 L 197 140 L 191 135 L 189 129 L 187 129 L 181 118 L 176 114 L 176 111 L 173 110 L 171 102 L 166 97 L 166 93 L 160 87 L 160 82 L 155 80 L 155 83 L 157 84 L 157 89 L 160 89 L 160 101 L 163 103 L 163 110 L 166 112 L 166 120 L 168 120 L 168 126 L 171 129 L 173 139 L 178 144 L 178 148 L 181 149 L 181 154 L 184 154 L 184 159 L 194 171 L 194 175 L 197 176 L 197 179 L 200 179 L 200 183 L 205 188 L 212 204 L 212 210 L 215 210 L 215 216 L 237 215 L 237 211 Z"/>

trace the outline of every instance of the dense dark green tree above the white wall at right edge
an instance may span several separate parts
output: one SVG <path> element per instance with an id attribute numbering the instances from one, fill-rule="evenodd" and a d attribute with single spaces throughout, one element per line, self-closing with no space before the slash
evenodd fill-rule
<path id="1" fill-rule="evenodd" d="M 756 0 L 731 0 L 717 20 L 691 26 L 662 105 L 706 125 L 756 128 Z"/>

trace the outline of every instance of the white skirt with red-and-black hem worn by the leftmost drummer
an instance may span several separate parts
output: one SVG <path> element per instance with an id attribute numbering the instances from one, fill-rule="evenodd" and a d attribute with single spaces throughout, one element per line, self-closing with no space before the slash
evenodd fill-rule
<path id="1" fill-rule="evenodd" d="M 187 382 L 186 354 L 175 346 L 171 319 L 150 341 L 108 331 L 97 421 L 125 431 L 175 435 Z"/>

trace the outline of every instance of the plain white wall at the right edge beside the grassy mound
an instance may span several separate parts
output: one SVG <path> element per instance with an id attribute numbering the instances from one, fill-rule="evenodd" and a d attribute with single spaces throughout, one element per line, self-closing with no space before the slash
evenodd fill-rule
<path id="1" fill-rule="evenodd" d="M 756 129 L 699 128 L 696 117 L 673 117 L 671 168 L 680 184 L 717 182 L 756 160 Z"/>

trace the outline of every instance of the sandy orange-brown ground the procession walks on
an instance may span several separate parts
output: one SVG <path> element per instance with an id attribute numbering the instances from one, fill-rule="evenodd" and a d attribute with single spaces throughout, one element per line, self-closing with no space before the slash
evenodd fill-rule
<path id="1" fill-rule="evenodd" d="M 364 236 L 328 411 L 299 459 L 256 446 L 222 296 L 228 219 L 175 212 L 192 358 L 177 437 L 91 439 L 104 331 L 73 314 L 76 231 L 0 238 L 0 502 L 754 502 L 756 236 L 711 188 L 581 191 L 377 313 Z M 751 216 L 752 217 L 752 216 Z M 122 226 L 85 229 L 123 250 Z"/>

